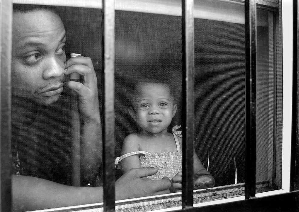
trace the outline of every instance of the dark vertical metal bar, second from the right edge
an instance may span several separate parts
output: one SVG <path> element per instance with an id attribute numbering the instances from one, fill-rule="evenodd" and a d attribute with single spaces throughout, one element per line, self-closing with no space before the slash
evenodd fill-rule
<path id="1" fill-rule="evenodd" d="M 245 0 L 245 199 L 255 197 L 256 174 L 256 5 Z"/>

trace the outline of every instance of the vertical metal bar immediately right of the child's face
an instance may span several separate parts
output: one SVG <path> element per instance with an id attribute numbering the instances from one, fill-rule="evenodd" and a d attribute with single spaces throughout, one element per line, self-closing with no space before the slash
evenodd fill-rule
<path id="1" fill-rule="evenodd" d="M 193 207 L 194 16 L 193 0 L 182 0 L 183 179 L 182 207 Z"/>

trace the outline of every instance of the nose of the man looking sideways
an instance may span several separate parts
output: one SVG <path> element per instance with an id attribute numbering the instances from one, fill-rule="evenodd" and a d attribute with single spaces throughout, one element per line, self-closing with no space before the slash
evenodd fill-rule
<path id="1" fill-rule="evenodd" d="M 45 69 L 43 71 L 43 78 L 50 79 L 60 77 L 65 73 L 64 62 L 58 57 L 51 57 L 45 63 Z"/>

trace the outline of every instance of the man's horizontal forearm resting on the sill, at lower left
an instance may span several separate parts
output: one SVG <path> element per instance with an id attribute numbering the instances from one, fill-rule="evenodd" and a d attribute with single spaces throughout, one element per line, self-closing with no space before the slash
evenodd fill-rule
<path id="1" fill-rule="evenodd" d="M 66 207 L 103 200 L 102 187 L 74 187 L 38 177 L 12 175 L 14 211 Z"/>

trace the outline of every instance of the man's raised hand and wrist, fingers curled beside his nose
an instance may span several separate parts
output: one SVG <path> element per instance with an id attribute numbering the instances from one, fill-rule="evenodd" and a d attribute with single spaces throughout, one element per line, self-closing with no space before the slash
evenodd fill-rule
<path id="1" fill-rule="evenodd" d="M 92 61 L 88 57 L 78 56 L 65 62 L 65 75 L 73 72 L 83 76 L 83 81 L 68 81 L 65 84 L 79 95 L 81 118 L 85 122 L 100 123 L 100 110 L 98 103 L 98 83 Z"/>

